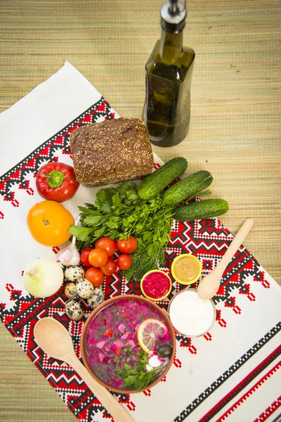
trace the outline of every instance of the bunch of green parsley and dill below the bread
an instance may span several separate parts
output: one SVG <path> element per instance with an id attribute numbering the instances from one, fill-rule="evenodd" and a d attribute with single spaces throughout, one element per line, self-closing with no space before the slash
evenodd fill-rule
<path id="1" fill-rule="evenodd" d="M 138 249 L 132 265 L 124 274 L 127 279 L 139 280 L 157 264 L 164 264 L 164 251 L 169 242 L 174 206 L 166 205 L 162 194 L 150 200 L 138 196 L 133 181 L 125 181 L 117 188 L 102 188 L 94 204 L 79 207 L 81 226 L 71 226 L 78 248 L 87 248 L 100 238 L 126 239 L 132 234 Z"/>

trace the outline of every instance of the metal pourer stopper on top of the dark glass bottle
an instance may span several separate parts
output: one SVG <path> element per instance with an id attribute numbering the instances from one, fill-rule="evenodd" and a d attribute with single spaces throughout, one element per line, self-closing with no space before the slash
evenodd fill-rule
<path id="1" fill-rule="evenodd" d="M 169 34 L 177 34 L 185 27 L 185 4 L 177 0 L 169 0 L 161 9 L 161 25 Z"/>

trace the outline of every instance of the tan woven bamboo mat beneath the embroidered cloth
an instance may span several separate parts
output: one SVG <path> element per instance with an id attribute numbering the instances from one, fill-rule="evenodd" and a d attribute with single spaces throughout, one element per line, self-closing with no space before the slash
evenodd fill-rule
<path id="1" fill-rule="evenodd" d="M 159 38 L 159 0 L 0 0 L 0 111 L 70 61 L 125 117 L 140 117 L 144 65 Z M 209 170 L 221 220 L 254 229 L 244 244 L 280 283 L 280 0 L 188 1 L 195 50 L 190 134 L 179 155 Z M 16 259 L 16 257 L 15 257 Z M 68 422 L 72 413 L 0 326 L 0 420 Z M 155 421 L 156 422 L 156 421 Z"/>

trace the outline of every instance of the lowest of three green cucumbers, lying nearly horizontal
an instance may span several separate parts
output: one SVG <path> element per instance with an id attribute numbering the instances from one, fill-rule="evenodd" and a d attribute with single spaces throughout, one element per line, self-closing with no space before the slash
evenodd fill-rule
<path id="1" fill-rule="evenodd" d="M 224 199 L 206 199 L 176 208 L 173 217 L 180 222 L 191 222 L 195 219 L 218 217 L 228 212 L 228 208 Z"/>

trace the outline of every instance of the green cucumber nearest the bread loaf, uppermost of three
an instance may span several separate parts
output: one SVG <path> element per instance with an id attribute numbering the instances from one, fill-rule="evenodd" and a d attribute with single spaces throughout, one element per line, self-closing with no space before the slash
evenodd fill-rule
<path id="1" fill-rule="evenodd" d="M 187 168 L 188 162 L 185 158 L 173 158 L 173 160 L 166 162 L 162 167 L 143 179 L 140 186 L 138 186 L 138 196 L 142 199 L 153 198 L 177 177 L 181 176 Z"/>

